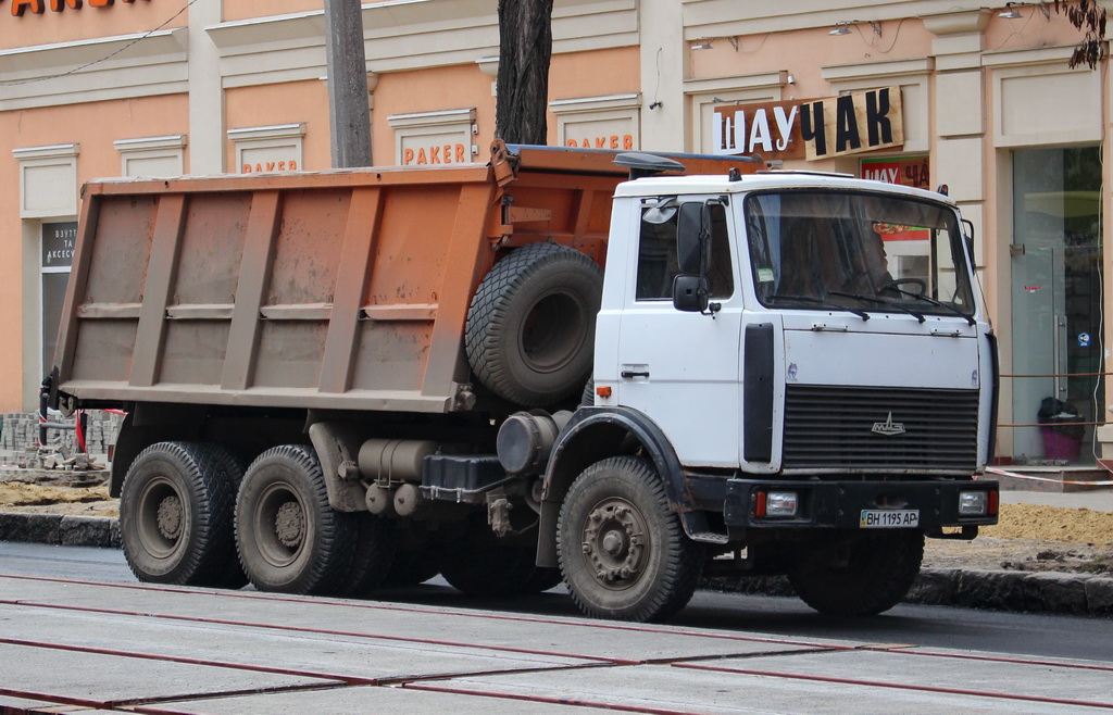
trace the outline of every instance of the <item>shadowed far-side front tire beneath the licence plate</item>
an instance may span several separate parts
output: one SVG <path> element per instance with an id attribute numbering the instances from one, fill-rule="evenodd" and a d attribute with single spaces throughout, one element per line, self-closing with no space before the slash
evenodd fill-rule
<path id="1" fill-rule="evenodd" d="M 923 533 L 887 532 L 844 543 L 834 558 L 801 565 L 788 580 L 821 614 L 875 616 L 907 595 L 923 559 Z"/>

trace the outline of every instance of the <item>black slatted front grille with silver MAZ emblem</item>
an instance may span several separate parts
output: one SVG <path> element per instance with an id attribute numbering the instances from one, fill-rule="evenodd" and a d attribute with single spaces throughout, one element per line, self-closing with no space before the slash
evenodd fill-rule
<path id="1" fill-rule="evenodd" d="M 977 415 L 976 389 L 789 385 L 782 466 L 969 474 Z"/>

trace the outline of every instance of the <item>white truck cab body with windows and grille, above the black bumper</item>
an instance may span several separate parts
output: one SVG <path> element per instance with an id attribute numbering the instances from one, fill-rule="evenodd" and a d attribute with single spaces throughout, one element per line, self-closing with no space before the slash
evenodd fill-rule
<path id="1" fill-rule="evenodd" d="M 702 315 L 673 305 L 689 212 L 708 234 L 687 274 L 706 276 Z M 686 467 L 984 467 L 991 327 L 945 196 L 816 173 L 639 179 L 618 188 L 607 264 L 595 404 L 650 416 Z"/>

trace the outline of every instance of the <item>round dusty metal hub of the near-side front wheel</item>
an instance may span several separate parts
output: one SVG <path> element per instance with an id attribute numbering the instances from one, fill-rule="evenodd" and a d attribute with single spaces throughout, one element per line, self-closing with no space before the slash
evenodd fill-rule
<path id="1" fill-rule="evenodd" d="M 588 515 L 583 529 L 583 554 L 600 583 L 624 588 L 646 568 L 646 523 L 620 499 L 599 504 Z"/>

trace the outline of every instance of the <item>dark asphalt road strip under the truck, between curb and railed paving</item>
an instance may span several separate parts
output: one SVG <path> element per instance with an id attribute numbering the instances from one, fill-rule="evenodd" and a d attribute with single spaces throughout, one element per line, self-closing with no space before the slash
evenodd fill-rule
<path id="1" fill-rule="evenodd" d="M 122 552 L 0 542 L 0 575 L 100 583 L 137 583 Z M 476 600 L 440 578 L 386 589 L 383 600 L 493 613 L 579 617 L 558 587 L 531 597 Z M 1084 658 L 1113 664 L 1113 619 L 1013 614 L 942 606 L 902 605 L 865 619 L 829 618 L 795 598 L 699 592 L 670 625 L 799 638 L 847 638 L 933 648 L 984 651 L 1020 657 Z M 1113 674 L 1111 674 L 1113 682 Z"/>

